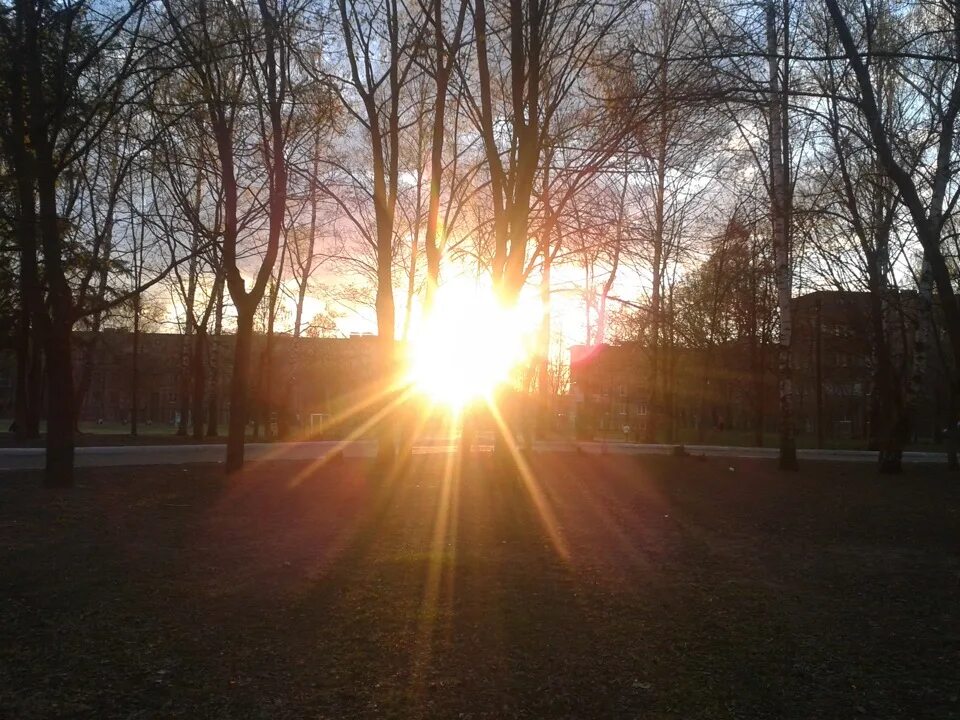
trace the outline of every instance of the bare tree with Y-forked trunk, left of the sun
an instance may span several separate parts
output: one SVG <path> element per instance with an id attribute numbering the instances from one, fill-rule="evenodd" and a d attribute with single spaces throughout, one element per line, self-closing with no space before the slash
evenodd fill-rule
<path id="1" fill-rule="evenodd" d="M 255 5 L 201 0 L 188 8 L 165 0 L 164 7 L 182 72 L 203 98 L 223 192 L 223 272 L 237 313 L 226 458 L 230 473 L 243 466 L 254 317 L 273 275 L 287 212 L 291 47 L 303 6 L 286 0 L 258 0 Z M 259 173 L 250 167 L 252 158 L 260 161 Z M 251 259 L 242 254 L 245 214 L 240 200 L 251 193 L 253 209 L 266 216 L 266 237 L 247 289 L 242 263 L 249 267 Z"/>

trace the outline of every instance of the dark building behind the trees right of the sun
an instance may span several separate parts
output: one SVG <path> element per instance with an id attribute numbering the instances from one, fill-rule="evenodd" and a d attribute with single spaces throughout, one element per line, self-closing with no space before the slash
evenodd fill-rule
<path id="1" fill-rule="evenodd" d="M 905 388 L 916 328 L 915 294 L 886 303 L 895 364 Z M 875 358 L 870 295 L 814 292 L 794 300 L 791 367 L 798 435 L 812 441 L 867 446 L 874 407 Z M 581 435 L 616 436 L 624 426 L 643 437 L 652 407 L 651 352 L 639 343 L 570 349 L 573 425 Z M 779 421 L 777 348 L 737 340 L 701 348 L 660 350 L 658 439 L 762 439 Z M 939 441 L 948 424 L 942 388 L 947 373 L 931 352 L 913 417 L 915 439 Z M 665 427 L 666 426 L 666 427 Z"/>

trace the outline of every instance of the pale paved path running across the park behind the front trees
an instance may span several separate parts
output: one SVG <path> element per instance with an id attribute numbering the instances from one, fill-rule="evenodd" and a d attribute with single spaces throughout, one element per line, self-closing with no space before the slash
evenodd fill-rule
<path id="1" fill-rule="evenodd" d="M 481 450 L 489 449 L 481 446 Z M 776 448 L 727 447 L 720 445 L 687 445 L 690 455 L 730 458 L 776 458 Z M 573 442 L 546 440 L 534 444 L 536 450 L 551 452 L 610 453 L 618 455 L 669 455 L 674 445 L 640 445 L 625 442 Z M 313 460 L 339 450 L 346 457 L 372 457 L 376 449 L 372 441 L 340 443 L 333 440 L 291 443 L 247 443 L 246 456 L 250 460 Z M 418 444 L 415 455 L 447 453 L 456 444 L 442 438 Z M 224 445 L 129 445 L 118 447 L 77 448 L 77 467 L 104 467 L 109 465 L 182 465 L 186 463 L 223 462 Z M 877 454 L 867 450 L 800 450 L 801 460 L 832 460 L 846 462 L 876 462 Z M 904 461 L 910 463 L 945 463 L 946 454 L 940 452 L 906 452 Z M 43 468 L 42 448 L 0 449 L 0 470 L 36 470 Z"/>

